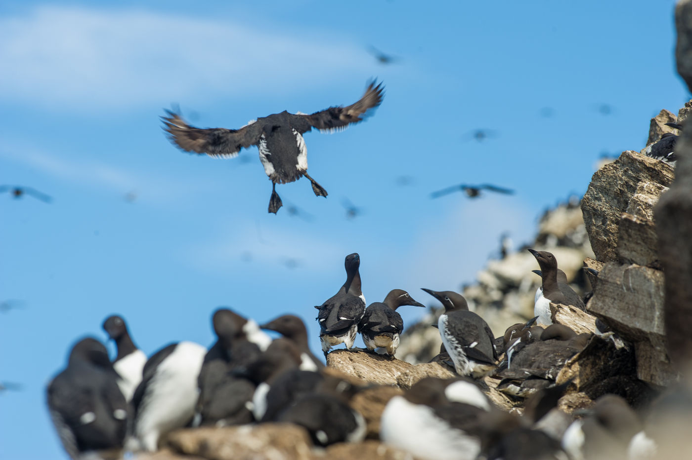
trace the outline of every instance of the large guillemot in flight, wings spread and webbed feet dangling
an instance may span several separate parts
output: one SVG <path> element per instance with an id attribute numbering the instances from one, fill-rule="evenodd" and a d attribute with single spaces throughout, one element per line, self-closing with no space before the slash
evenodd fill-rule
<path id="1" fill-rule="evenodd" d="M 166 111 L 168 116 L 161 119 L 170 141 L 187 152 L 206 153 L 212 157 L 235 157 L 241 148 L 256 145 L 264 173 L 272 183 L 269 212 L 276 213 L 282 207 L 276 184 L 294 182 L 305 176 L 310 180 L 316 196 L 327 196 L 327 191 L 307 173 L 307 148 L 302 135 L 312 128 L 334 131 L 363 121 L 367 111 L 382 102 L 384 88 L 382 84 L 375 83 L 370 83 L 363 97 L 350 106 L 329 107 L 312 115 L 294 115 L 283 111 L 257 118 L 240 129 L 195 128 L 171 111 Z"/>

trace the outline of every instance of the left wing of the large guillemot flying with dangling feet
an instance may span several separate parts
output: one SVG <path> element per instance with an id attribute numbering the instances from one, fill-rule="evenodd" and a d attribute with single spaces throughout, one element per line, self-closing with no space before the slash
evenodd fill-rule
<path id="1" fill-rule="evenodd" d="M 240 129 L 195 128 L 178 113 L 166 111 L 161 117 L 168 139 L 186 152 L 206 153 L 212 157 L 235 157 L 241 148 L 260 142 L 262 127 L 257 122 Z"/>

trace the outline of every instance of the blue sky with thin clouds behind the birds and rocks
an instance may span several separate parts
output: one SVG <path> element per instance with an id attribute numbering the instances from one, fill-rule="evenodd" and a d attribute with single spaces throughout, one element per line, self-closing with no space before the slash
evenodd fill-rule
<path id="1" fill-rule="evenodd" d="M 649 118 L 689 99 L 673 1 L 564 3 L 4 1 L 0 184 L 53 203 L 0 196 L 0 301 L 21 301 L 0 314 L 0 381 L 23 385 L 0 394 L 0 457 L 65 457 L 44 388 L 75 340 L 104 340 L 109 314 L 147 354 L 210 345 L 220 305 L 298 314 L 319 349 L 313 305 L 343 284 L 348 253 L 368 303 L 400 288 L 432 304 L 419 288 L 473 281 L 504 231 L 531 240 L 601 153 L 639 150 Z M 400 59 L 381 66 L 370 46 Z M 374 116 L 305 136 L 329 197 L 277 186 L 277 215 L 256 148 L 195 157 L 158 120 L 173 103 L 201 127 L 312 113 L 372 77 L 386 86 Z M 476 142 L 477 128 L 497 135 Z M 430 200 L 460 183 L 516 195 Z M 345 200 L 361 215 L 347 220 Z"/>

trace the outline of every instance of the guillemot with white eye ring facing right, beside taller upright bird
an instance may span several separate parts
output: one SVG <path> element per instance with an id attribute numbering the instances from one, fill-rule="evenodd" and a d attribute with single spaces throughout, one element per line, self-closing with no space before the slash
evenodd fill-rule
<path id="1" fill-rule="evenodd" d="M 371 303 L 363 314 L 358 330 L 363 337 L 363 343 L 370 351 L 377 347 L 385 347 L 387 354 L 394 358 L 399 347 L 399 334 L 403 331 L 403 320 L 397 313 L 401 305 L 413 305 L 414 307 L 426 307 L 416 302 L 402 289 L 392 289 L 387 294 L 383 303 Z"/>

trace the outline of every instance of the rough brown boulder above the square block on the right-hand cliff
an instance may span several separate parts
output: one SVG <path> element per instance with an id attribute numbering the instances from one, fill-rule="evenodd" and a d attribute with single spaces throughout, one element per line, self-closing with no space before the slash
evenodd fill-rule
<path id="1" fill-rule="evenodd" d="M 581 211 L 594 255 L 601 262 L 619 260 L 619 224 L 639 182 L 669 186 L 674 170 L 668 164 L 626 151 L 594 173 L 581 200 Z"/>

